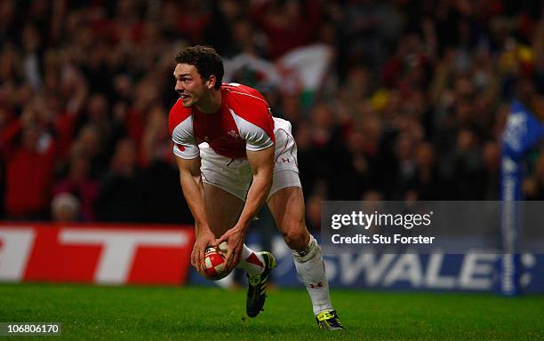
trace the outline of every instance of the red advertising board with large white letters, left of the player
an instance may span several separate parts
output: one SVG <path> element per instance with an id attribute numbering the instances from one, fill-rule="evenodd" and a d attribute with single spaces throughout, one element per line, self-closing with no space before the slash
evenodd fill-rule
<path id="1" fill-rule="evenodd" d="M 192 226 L 0 224 L 0 281 L 183 284 Z"/>

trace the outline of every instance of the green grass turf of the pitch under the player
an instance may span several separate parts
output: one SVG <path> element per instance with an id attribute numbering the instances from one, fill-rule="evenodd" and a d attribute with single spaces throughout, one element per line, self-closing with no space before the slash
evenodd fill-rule
<path id="1" fill-rule="evenodd" d="M 325 333 L 302 290 L 269 290 L 266 311 L 255 319 L 244 317 L 244 295 L 243 289 L 1 284 L 0 321 L 60 321 L 61 338 L 73 340 L 544 339 L 542 296 L 333 290 L 346 330 Z"/>

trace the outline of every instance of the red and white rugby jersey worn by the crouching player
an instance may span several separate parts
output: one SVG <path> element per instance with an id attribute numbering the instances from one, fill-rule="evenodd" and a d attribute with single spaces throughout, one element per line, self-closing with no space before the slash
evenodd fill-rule
<path id="1" fill-rule="evenodd" d="M 170 110 L 168 123 L 173 152 L 183 159 L 200 155 L 198 144 L 207 142 L 219 155 L 245 158 L 245 150 L 258 151 L 275 143 L 274 119 L 259 91 L 238 83 L 220 87 L 221 107 L 212 114 L 183 107 Z"/>

